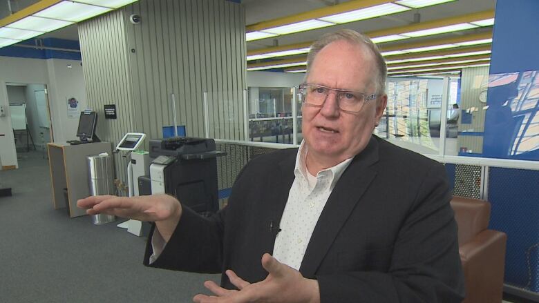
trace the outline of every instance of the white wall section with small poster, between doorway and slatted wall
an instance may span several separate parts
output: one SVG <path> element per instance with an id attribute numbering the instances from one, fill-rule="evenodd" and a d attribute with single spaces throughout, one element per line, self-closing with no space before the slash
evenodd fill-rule
<path id="1" fill-rule="evenodd" d="M 71 68 L 68 68 L 68 64 Z M 48 101 L 53 120 L 54 141 L 76 140 L 79 117 L 68 117 L 67 101 L 75 97 L 79 101 L 79 112 L 88 107 L 82 66 L 80 61 L 47 59 L 47 67 L 50 81 Z"/>

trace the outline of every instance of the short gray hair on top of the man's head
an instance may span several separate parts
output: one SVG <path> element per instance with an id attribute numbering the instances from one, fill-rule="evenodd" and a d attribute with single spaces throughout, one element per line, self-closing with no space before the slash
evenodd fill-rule
<path id="1" fill-rule="evenodd" d="M 309 76 L 314 57 L 318 55 L 320 50 L 322 50 L 322 48 L 325 46 L 328 46 L 328 44 L 339 40 L 346 40 L 352 44 L 366 47 L 368 50 L 370 50 L 375 59 L 375 68 L 377 69 L 377 79 L 374 81 L 376 91 L 378 94 L 383 94 L 386 91 L 386 77 L 388 75 L 386 61 L 384 60 L 384 57 L 382 57 L 376 44 L 373 43 L 369 37 L 362 35 L 355 30 L 338 30 L 337 32 L 330 32 L 320 37 L 320 39 L 314 41 L 314 43 L 312 43 L 309 55 L 307 56 L 307 72 L 305 73 L 305 79 L 307 79 Z"/>

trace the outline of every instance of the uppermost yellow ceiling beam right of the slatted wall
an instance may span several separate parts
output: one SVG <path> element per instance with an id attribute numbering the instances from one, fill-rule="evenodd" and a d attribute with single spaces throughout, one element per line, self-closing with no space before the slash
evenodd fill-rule
<path id="1" fill-rule="evenodd" d="M 276 26 L 285 26 L 287 24 L 301 22 L 310 19 L 317 19 L 321 17 L 327 17 L 332 14 L 339 14 L 341 12 L 350 12 L 351 10 L 359 10 L 360 8 L 368 8 L 370 6 L 377 6 L 383 3 L 390 3 L 388 0 L 352 0 L 345 3 L 337 4 L 335 6 L 329 6 L 327 8 L 318 8 L 316 10 L 310 10 L 308 12 L 301 12 L 299 14 L 292 14 L 287 17 L 281 17 L 268 21 L 262 21 L 254 23 L 245 28 L 245 32 L 255 32 L 257 30 L 264 30 L 266 28 L 274 28 Z"/>

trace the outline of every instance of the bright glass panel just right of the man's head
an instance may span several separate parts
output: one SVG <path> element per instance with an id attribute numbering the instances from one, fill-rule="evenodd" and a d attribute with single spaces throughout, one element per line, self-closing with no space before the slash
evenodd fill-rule
<path id="1" fill-rule="evenodd" d="M 375 134 L 418 153 L 439 150 L 442 79 L 390 78 L 388 105 Z"/>

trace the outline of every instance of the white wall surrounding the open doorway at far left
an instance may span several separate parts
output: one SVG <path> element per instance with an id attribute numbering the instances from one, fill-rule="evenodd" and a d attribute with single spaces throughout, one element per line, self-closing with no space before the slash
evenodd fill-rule
<path id="1" fill-rule="evenodd" d="M 72 68 L 67 68 L 68 64 L 71 64 Z M 81 110 L 87 106 L 80 61 L 0 57 L 0 66 L 0 106 L 4 106 L 6 110 L 6 116 L 0 117 L 1 166 L 19 167 L 11 128 L 6 83 L 46 84 L 54 141 L 77 139 L 75 135 L 79 119 L 78 117 L 68 118 L 66 97 L 76 97 Z"/>

